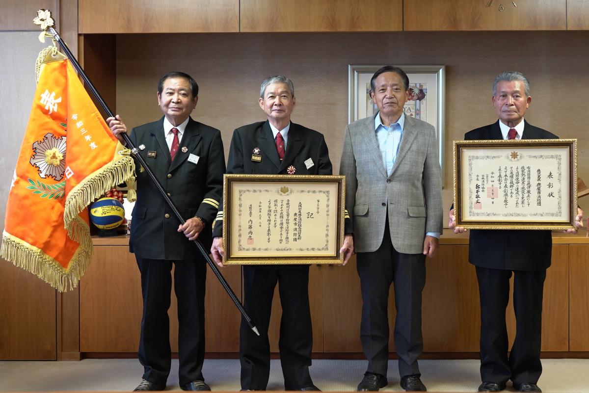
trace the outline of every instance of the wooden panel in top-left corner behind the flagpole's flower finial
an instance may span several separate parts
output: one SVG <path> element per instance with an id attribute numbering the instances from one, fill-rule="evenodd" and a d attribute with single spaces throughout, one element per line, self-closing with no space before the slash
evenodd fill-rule
<path id="1" fill-rule="evenodd" d="M 0 31 L 30 30 L 39 34 L 41 29 L 33 24 L 38 9 L 48 9 L 59 21 L 59 0 L 2 0 Z"/>

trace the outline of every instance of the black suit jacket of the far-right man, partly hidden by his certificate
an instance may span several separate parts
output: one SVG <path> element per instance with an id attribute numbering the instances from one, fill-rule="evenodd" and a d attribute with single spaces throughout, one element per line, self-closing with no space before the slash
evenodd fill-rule
<path id="1" fill-rule="evenodd" d="M 466 132 L 464 139 L 503 139 L 499 121 Z M 558 136 L 524 120 L 522 139 L 558 139 Z M 550 231 L 472 229 L 468 258 L 478 267 L 508 270 L 542 270 L 550 266 Z"/>

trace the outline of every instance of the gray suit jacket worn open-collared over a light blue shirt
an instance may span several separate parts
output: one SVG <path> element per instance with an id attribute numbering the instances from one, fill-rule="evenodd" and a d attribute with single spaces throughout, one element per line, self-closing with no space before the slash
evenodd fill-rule
<path id="1" fill-rule="evenodd" d="M 434 126 L 405 116 L 391 176 L 382 163 L 375 116 L 346 126 L 340 174 L 357 252 L 376 251 L 388 214 L 391 242 L 403 254 L 421 254 L 425 232 L 442 232 L 442 179 Z"/>

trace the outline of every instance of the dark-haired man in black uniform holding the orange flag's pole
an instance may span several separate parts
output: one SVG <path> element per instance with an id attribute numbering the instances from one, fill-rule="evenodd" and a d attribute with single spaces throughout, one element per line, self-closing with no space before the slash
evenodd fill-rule
<path id="1" fill-rule="evenodd" d="M 171 363 L 168 308 L 172 265 L 178 299 L 180 388 L 210 390 L 201 372 L 206 261 L 193 240 L 198 238 L 204 247 L 210 247 L 211 223 L 223 194 L 223 142 L 218 129 L 190 117 L 198 101 L 198 85 L 190 75 L 164 75 L 158 84 L 157 100 L 163 118 L 134 128 L 130 138 L 186 223 L 178 225 L 147 172 L 138 172 L 129 244 L 141 271 L 139 360 L 145 372 L 135 390 L 166 388 Z M 108 118 L 107 123 L 117 138 L 127 132 L 118 115 Z"/>

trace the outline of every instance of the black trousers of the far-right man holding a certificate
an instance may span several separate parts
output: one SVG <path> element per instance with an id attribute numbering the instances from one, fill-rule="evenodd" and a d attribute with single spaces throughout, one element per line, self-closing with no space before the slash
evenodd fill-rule
<path id="1" fill-rule="evenodd" d="M 542 295 L 546 270 L 513 271 L 517 332 L 508 351 L 505 310 L 509 302 L 511 270 L 477 267 L 481 299 L 481 380 L 505 384 L 536 384 L 542 374 L 540 342 Z"/>

